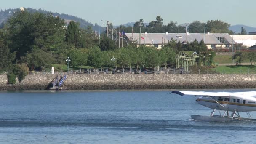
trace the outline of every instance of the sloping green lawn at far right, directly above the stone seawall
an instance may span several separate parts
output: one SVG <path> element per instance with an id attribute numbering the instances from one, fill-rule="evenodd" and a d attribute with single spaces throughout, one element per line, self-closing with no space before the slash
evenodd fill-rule
<path id="1" fill-rule="evenodd" d="M 256 73 L 256 66 L 253 65 L 251 68 L 251 65 L 241 65 L 241 66 L 217 66 L 216 68 L 217 72 L 220 73 Z M 212 69 L 212 70 L 215 70 Z"/>

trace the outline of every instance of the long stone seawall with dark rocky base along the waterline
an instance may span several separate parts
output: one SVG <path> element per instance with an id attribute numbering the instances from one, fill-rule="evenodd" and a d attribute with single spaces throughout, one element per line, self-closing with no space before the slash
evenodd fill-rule
<path id="1" fill-rule="evenodd" d="M 56 76 L 27 75 L 8 85 L 7 76 L 0 75 L 0 90 L 44 90 Z M 68 90 L 256 88 L 256 74 L 73 74 L 64 84 Z"/>

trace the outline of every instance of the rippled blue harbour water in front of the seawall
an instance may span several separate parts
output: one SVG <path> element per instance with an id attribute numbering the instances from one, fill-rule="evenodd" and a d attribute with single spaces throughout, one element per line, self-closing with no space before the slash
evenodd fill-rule
<path id="1" fill-rule="evenodd" d="M 211 109 L 167 93 L 0 92 L 0 144 L 254 143 L 256 122 L 194 121 Z"/>

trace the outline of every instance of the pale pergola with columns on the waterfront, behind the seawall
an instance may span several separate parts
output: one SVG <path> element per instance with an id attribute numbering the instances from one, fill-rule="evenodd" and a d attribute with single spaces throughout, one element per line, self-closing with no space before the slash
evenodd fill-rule
<path id="1" fill-rule="evenodd" d="M 185 53 L 177 54 L 177 55 L 175 55 L 175 58 L 176 58 L 175 68 L 176 69 L 180 68 L 180 63 L 181 63 L 181 67 L 185 68 L 185 71 L 188 71 L 190 66 L 197 65 L 197 58 L 199 58 L 199 57 L 205 58 L 205 56 L 199 55 L 197 53 L 196 54 L 188 54 L 188 55 Z M 203 59 L 201 65 L 203 65 L 203 66 L 205 65 L 204 59 Z"/>

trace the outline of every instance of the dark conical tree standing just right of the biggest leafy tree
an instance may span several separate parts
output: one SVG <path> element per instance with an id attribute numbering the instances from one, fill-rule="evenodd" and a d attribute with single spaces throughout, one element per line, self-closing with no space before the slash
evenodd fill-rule
<path id="1" fill-rule="evenodd" d="M 78 46 L 78 41 L 80 38 L 79 24 L 75 21 L 70 21 L 67 27 L 66 41 L 69 45 L 74 45 L 75 48 Z"/>

